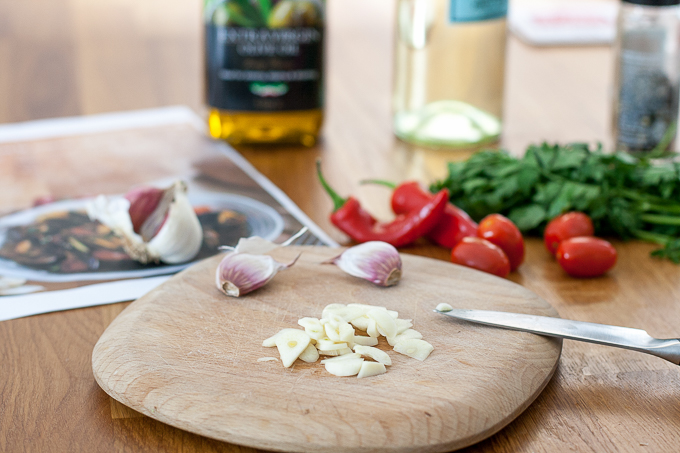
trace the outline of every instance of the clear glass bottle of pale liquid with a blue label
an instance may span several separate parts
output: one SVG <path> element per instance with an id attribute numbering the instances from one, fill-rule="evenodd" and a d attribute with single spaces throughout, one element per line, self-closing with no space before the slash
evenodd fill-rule
<path id="1" fill-rule="evenodd" d="M 434 148 L 497 142 L 507 0 L 398 0 L 393 127 Z"/>

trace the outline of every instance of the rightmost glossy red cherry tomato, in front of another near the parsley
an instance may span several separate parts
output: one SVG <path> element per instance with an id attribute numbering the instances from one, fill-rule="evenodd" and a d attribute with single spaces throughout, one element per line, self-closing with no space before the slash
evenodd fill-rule
<path id="1" fill-rule="evenodd" d="M 597 277 L 616 264 L 616 249 L 604 239 L 565 239 L 557 248 L 557 262 L 572 277 Z"/>

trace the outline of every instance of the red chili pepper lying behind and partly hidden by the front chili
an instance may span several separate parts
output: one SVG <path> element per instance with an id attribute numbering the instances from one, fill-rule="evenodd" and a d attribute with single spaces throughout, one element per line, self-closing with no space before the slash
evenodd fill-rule
<path id="1" fill-rule="evenodd" d="M 412 212 L 427 204 L 435 196 L 424 190 L 415 181 L 407 181 L 398 186 L 388 181 L 364 181 L 365 183 L 382 184 L 394 189 L 392 193 L 392 211 L 395 214 Z M 427 237 L 447 248 L 453 248 L 464 237 L 477 236 L 477 223 L 462 209 L 447 203 L 444 213 L 437 225 L 427 234 Z"/>

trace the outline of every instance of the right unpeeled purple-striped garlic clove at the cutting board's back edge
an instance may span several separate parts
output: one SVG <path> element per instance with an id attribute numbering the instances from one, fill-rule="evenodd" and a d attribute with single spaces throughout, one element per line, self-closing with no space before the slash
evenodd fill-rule
<path id="1" fill-rule="evenodd" d="M 399 252 L 386 242 L 371 241 L 355 245 L 329 262 L 349 275 L 378 286 L 396 285 L 401 279 Z"/>

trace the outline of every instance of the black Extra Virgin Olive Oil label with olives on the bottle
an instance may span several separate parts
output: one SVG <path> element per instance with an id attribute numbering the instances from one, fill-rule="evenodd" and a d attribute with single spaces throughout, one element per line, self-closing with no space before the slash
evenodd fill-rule
<path id="1" fill-rule="evenodd" d="M 207 102 L 238 111 L 318 109 L 323 3 L 227 0 L 206 6 Z"/>

